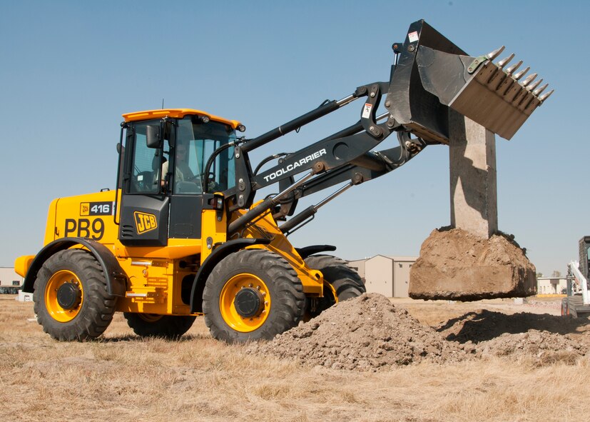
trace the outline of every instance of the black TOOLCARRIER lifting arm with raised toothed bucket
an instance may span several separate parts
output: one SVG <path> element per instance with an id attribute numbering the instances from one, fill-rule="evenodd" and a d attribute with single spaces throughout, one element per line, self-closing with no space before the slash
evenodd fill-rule
<path id="1" fill-rule="evenodd" d="M 485 56 L 471 57 L 424 21 L 410 25 L 405 42 L 394 44 L 396 54 L 389 82 L 360 86 L 340 101 L 325 101 L 317 109 L 278 126 L 255 139 L 235 145 L 235 187 L 225 191 L 230 211 L 249 208 L 255 191 L 279 183 L 281 192 L 230 223 L 235 233 L 261 214 L 281 204 L 276 217 L 292 215 L 296 199 L 335 184 L 347 183 L 332 199 L 350 186 L 375 179 L 397 169 L 428 144 L 448 144 L 449 108 L 476 121 L 490 131 L 510 139 L 528 116 L 551 95 L 541 95 L 533 74 L 519 79 L 528 69 L 514 73 L 519 64 L 504 69 L 512 56 L 494 64 L 502 49 Z M 382 96 L 387 113 L 376 116 Z M 248 152 L 305 124 L 332 113 L 361 97 L 366 97 L 360 121 L 293 154 L 285 154 L 278 165 L 255 174 Z M 384 123 L 377 123 L 386 119 Z M 372 151 L 397 132 L 399 146 Z M 411 135 L 415 137 L 412 138 Z M 307 175 L 295 183 L 294 176 Z M 281 228 L 292 231 L 325 204 L 320 202 Z"/>

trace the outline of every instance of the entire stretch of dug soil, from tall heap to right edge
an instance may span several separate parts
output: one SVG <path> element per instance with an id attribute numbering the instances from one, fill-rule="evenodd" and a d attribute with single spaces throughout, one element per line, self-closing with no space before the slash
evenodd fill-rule
<path id="1" fill-rule="evenodd" d="M 535 316 L 540 322 L 534 322 Z M 560 323 L 551 318 L 559 317 L 480 311 L 432 328 L 419 323 L 404 308 L 393 306 L 385 296 L 365 293 L 337 303 L 273 341 L 250 344 L 247 351 L 355 371 L 487 356 L 528 356 L 539 363 L 574 363 L 584 356 L 587 347 L 561 333 L 574 329 L 563 326 L 563 321 L 571 320 L 561 319 Z"/>

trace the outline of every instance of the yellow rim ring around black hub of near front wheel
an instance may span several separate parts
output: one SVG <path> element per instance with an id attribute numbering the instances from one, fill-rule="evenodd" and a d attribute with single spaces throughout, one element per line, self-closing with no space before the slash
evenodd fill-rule
<path id="1" fill-rule="evenodd" d="M 261 301 L 260 309 L 255 315 L 249 317 L 241 316 L 235 308 L 235 297 L 245 288 L 255 291 Z M 270 292 L 264 281 L 259 277 L 249 273 L 238 274 L 230 278 L 221 289 L 219 309 L 223 321 L 233 330 L 240 331 L 240 333 L 250 333 L 263 326 L 266 318 L 268 318 L 270 313 Z"/>

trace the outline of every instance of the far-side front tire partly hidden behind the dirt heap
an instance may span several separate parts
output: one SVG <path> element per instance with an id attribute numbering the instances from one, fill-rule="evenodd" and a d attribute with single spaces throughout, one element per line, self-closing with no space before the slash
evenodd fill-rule
<path id="1" fill-rule="evenodd" d="M 336 256 L 312 255 L 305 258 L 308 267 L 322 271 L 324 297 L 308 303 L 307 317 L 314 318 L 335 303 L 346 301 L 366 293 L 365 283 L 357 271 Z"/>

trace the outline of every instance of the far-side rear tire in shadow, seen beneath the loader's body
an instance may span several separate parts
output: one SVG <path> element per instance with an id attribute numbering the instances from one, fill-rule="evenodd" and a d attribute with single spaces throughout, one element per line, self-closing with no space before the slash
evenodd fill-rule
<path id="1" fill-rule="evenodd" d="M 123 312 L 127 325 L 140 337 L 176 340 L 190 330 L 195 316 Z"/>

